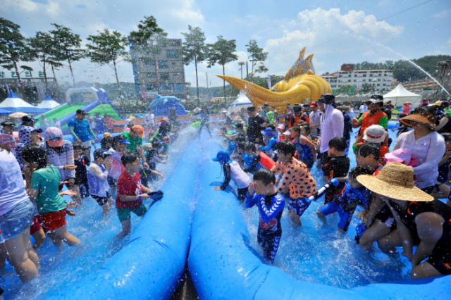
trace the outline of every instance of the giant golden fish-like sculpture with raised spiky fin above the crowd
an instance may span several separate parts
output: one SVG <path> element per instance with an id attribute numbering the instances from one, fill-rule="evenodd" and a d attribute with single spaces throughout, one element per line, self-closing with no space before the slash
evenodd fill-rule
<path id="1" fill-rule="evenodd" d="M 315 74 L 311 62 L 313 54 L 304 59 L 304 53 L 305 48 L 300 51 L 299 58 L 288 70 L 285 80 L 281 80 L 271 89 L 265 89 L 236 77 L 216 76 L 221 77 L 243 92 L 254 106 L 262 106 L 267 103 L 269 106 L 276 106 L 278 112 L 285 113 L 287 104 L 309 103 L 304 99 L 316 101 L 322 94 L 332 93 L 332 88 L 328 82 Z"/>

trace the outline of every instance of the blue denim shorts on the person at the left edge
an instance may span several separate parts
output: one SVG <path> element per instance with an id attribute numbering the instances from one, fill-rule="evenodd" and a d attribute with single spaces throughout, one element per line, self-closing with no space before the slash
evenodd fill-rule
<path id="1" fill-rule="evenodd" d="M 23 230 L 32 225 L 33 215 L 35 206 L 30 200 L 20 202 L 8 213 L 0 215 L 0 242 L 22 235 Z"/>

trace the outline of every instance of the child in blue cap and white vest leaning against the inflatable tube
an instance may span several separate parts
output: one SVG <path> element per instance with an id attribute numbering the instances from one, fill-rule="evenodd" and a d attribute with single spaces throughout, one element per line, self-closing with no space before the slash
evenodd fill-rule
<path id="1" fill-rule="evenodd" d="M 226 150 L 218 151 L 213 161 L 217 161 L 223 165 L 224 182 L 220 187 L 214 187 L 217 191 L 223 191 L 228 187 L 230 180 L 233 180 L 238 189 L 238 200 L 240 202 L 245 201 L 247 194 L 247 187 L 251 184 L 252 180 L 247 176 L 245 171 L 242 170 L 240 165 L 236 161 L 230 159 L 230 154 Z"/>

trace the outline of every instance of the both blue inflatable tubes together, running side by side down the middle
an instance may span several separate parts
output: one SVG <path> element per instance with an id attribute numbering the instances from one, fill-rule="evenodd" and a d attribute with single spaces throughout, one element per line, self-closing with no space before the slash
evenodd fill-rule
<path id="1" fill-rule="evenodd" d="M 162 189 L 163 201 L 144 216 L 128 245 L 52 299 L 168 299 L 188 251 L 200 299 L 450 299 L 451 276 L 345 289 L 295 280 L 264 264 L 235 194 L 213 189 L 221 168 L 211 158 L 221 144 L 204 133 L 188 146 Z"/>

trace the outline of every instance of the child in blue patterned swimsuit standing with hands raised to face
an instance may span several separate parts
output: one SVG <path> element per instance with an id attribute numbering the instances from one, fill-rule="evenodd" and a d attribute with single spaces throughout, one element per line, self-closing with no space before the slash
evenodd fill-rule
<path id="1" fill-rule="evenodd" d="M 248 187 L 245 206 L 259 208 L 259 230 L 257 241 L 263 248 L 266 261 L 273 264 L 276 257 L 280 237 L 282 235 L 282 218 L 285 200 L 274 189 L 276 177 L 267 168 L 261 168 L 254 174 L 254 181 Z"/>

